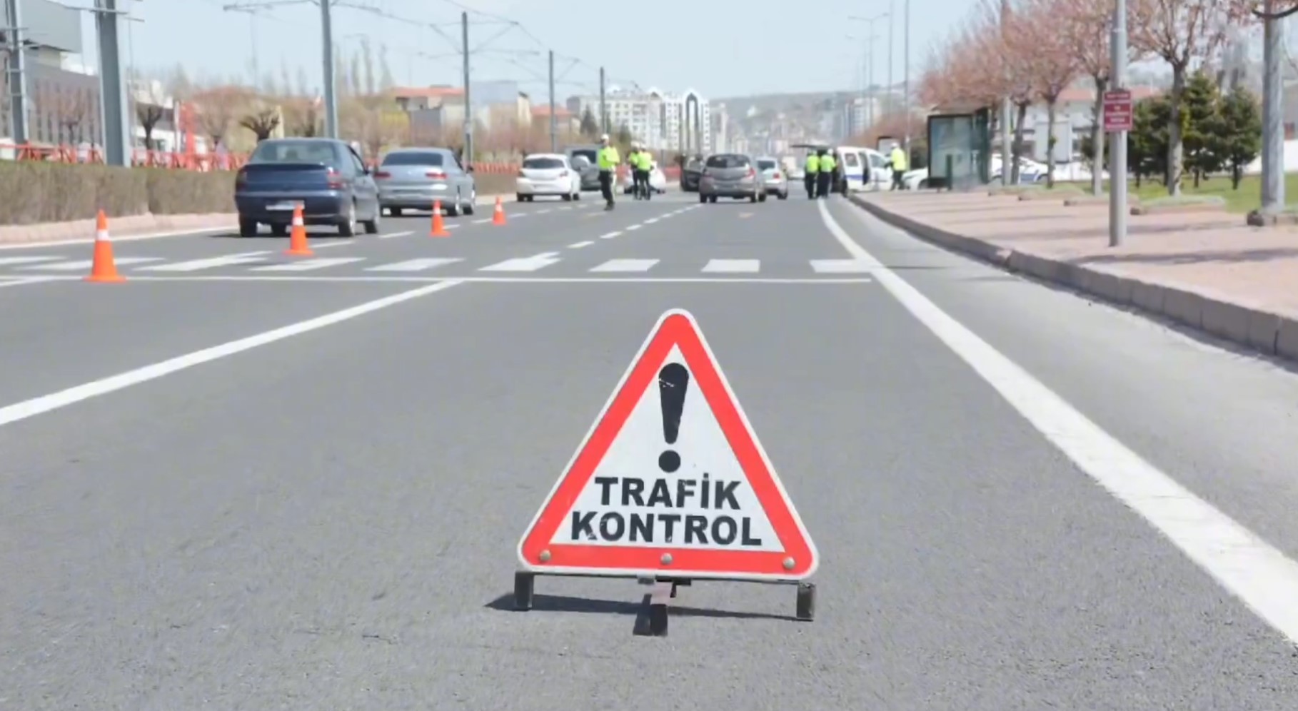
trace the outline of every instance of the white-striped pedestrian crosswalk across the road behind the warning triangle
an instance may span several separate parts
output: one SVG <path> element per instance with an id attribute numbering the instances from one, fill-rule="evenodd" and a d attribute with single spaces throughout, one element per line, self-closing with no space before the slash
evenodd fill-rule
<path id="1" fill-rule="evenodd" d="M 57 256 L 0 257 L 0 275 L 31 276 L 36 274 L 77 274 L 88 271 L 90 259 L 67 259 Z M 779 259 L 763 262 L 757 258 L 694 258 L 685 256 L 596 258 L 593 254 L 578 250 L 541 252 L 502 258 L 483 257 L 418 257 L 397 261 L 384 261 L 376 257 L 312 257 L 292 259 L 278 252 L 245 252 L 219 257 L 167 261 L 161 257 L 118 257 L 117 267 L 123 274 L 139 275 L 204 275 L 247 272 L 249 275 L 336 275 L 371 274 L 380 275 L 456 275 L 482 272 L 483 276 L 497 274 L 535 274 L 540 271 L 580 271 L 602 275 L 680 275 L 694 272 L 706 276 L 745 276 L 762 272 L 810 272 L 824 275 L 866 274 L 870 263 L 857 259 Z"/>

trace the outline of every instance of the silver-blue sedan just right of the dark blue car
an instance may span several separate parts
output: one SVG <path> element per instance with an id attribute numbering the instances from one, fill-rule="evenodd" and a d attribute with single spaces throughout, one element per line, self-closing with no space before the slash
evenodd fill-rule
<path id="1" fill-rule="evenodd" d="M 449 148 L 397 148 L 383 157 L 374 174 L 379 204 L 392 217 L 402 210 L 431 210 L 435 201 L 448 215 L 474 214 L 478 187 Z"/>

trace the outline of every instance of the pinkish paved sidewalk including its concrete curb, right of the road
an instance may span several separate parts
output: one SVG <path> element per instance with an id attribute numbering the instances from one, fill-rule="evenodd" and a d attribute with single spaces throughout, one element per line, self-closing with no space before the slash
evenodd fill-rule
<path id="1" fill-rule="evenodd" d="M 1232 213 L 1129 215 L 1108 247 L 1108 206 L 974 193 L 851 201 L 916 237 L 1298 361 L 1298 228 Z"/>

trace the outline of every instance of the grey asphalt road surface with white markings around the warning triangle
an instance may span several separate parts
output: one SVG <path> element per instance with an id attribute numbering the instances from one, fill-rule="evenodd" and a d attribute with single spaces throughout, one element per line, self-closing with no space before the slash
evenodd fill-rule
<path id="1" fill-rule="evenodd" d="M 0 267 L 0 708 L 1294 707 L 1293 372 L 839 199 L 508 208 L 302 271 L 257 271 L 301 263 L 270 237 L 123 241 L 154 261 L 121 285 L 0 252 L 53 257 Z M 509 610 L 671 307 L 816 541 L 815 621 L 742 583 L 666 638 L 633 581 Z"/>

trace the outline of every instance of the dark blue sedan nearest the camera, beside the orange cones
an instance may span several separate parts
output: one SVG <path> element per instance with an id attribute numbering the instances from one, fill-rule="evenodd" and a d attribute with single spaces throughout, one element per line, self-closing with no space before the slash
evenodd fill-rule
<path id="1" fill-rule="evenodd" d="M 352 237 L 357 226 L 379 231 L 379 188 L 350 145 L 336 139 L 267 139 L 257 144 L 235 178 L 239 235 L 257 236 L 266 224 L 288 234 L 293 210 L 306 224 L 331 224 Z"/>

